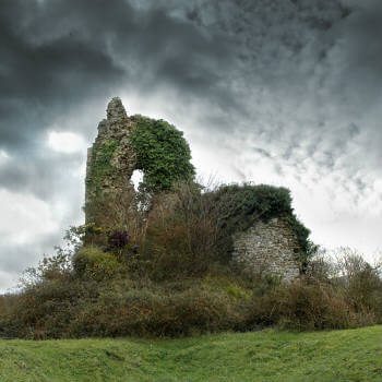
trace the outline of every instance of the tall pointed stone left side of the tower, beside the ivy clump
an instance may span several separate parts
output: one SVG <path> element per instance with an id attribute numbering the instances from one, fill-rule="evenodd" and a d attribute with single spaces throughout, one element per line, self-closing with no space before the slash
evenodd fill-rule
<path id="1" fill-rule="evenodd" d="M 130 178 L 136 166 L 129 135 L 135 128 L 120 98 L 112 98 L 107 119 L 98 124 L 98 135 L 87 150 L 85 180 L 85 222 L 105 227 L 107 213 L 115 214 L 116 201 L 128 203 L 134 195 Z M 121 201 L 121 198 L 124 201 Z M 102 206 L 100 206 L 102 205 Z M 103 211 L 99 212 L 99 208 Z M 114 220 L 114 224 L 122 223 Z"/>

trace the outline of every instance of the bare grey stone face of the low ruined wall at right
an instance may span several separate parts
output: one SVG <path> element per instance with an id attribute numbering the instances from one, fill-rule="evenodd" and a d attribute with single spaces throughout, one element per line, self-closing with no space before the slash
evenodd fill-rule
<path id="1" fill-rule="evenodd" d="M 236 234 L 232 260 L 253 272 L 276 274 L 284 282 L 290 282 L 299 276 L 297 258 L 300 251 L 288 219 L 276 217 Z"/>

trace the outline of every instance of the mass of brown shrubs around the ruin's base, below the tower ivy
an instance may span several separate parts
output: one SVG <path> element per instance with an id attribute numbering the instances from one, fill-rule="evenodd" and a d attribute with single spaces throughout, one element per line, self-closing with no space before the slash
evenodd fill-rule
<path id="1" fill-rule="evenodd" d="M 267 208 L 287 208 L 283 199 L 274 202 L 277 189 L 260 190 L 265 206 L 259 203 L 256 211 L 271 217 Z M 240 206 L 236 192 L 231 202 L 220 192 L 180 183 L 171 194 L 156 196 L 135 230 L 72 228 L 68 248 L 29 270 L 20 294 L 0 298 L 1 335 L 183 336 L 382 323 L 379 270 L 357 253 L 345 253 L 335 264 L 310 255 L 305 275 L 289 285 L 265 272 L 232 267 L 220 256 L 222 230 L 235 211 L 252 210 L 254 199 L 244 198 Z M 230 194 L 227 188 L 224 194 Z"/>

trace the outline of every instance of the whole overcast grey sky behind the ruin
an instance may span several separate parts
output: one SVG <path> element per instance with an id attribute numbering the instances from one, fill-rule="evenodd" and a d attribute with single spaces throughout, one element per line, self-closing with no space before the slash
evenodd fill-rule
<path id="1" fill-rule="evenodd" d="M 83 223 L 112 96 L 199 175 L 288 187 L 317 243 L 382 249 L 381 0 L 1 0 L 0 290 Z"/>

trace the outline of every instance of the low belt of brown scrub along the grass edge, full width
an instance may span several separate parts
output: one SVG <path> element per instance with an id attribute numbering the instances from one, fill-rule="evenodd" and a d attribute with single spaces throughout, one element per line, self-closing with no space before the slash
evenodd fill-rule
<path id="1" fill-rule="evenodd" d="M 382 323 L 381 306 L 370 308 L 361 301 L 354 306 L 348 289 L 333 280 L 302 278 L 285 285 L 273 278 L 246 279 L 220 267 L 215 272 L 160 283 L 144 275 L 46 280 L 0 309 L 0 333 L 26 338 L 183 336 L 266 326 L 303 331 Z"/>

